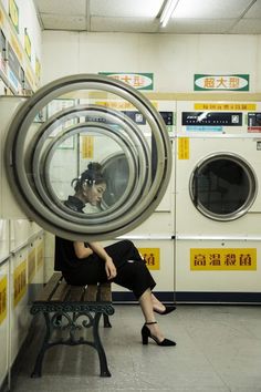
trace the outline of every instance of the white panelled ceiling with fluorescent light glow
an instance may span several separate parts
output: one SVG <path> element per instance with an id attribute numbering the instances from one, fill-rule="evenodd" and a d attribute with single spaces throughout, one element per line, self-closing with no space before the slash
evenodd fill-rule
<path id="1" fill-rule="evenodd" d="M 261 0 L 33 0 L 43 30 L 175 34 L 261 34 Z"/>

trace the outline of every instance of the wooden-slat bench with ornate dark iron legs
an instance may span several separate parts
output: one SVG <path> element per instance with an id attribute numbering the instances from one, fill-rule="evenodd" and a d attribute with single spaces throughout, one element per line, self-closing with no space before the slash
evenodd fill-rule
<path id="1" fill-rule="evenodd" d="M 112 327 L 108 319 L 114 313 L 111 283 L 70 286 L 61 272 L 54 272 L 33 301 L 30 311 L 32 314 L 42 313 L 45 320 L 45 336 L 32 378 L 41 376 L 44 353 L 56 344 L 93 347 L 98 353 L 101 376 L 111 376 L 98 334 L 102 314 L 104 327 Z M 92 331 L 92 339 L 86 338 L 87 329 Z"/>

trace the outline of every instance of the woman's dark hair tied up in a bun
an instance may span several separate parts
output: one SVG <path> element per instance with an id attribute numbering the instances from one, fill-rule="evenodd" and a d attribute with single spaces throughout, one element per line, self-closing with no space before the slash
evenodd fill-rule
<path id="1" fill-rule="evenodd" d="M 80 177 L 73 178 L 71 185 L 74 187 L 74 190 L 77 192 L 82 188 L 83 184 L 98 185 L 106 184 L 106 180 L 102 174 L 102 166 L 96 162 L 91 162 L 87 165 L 87 169 L 84 171 Z"/>

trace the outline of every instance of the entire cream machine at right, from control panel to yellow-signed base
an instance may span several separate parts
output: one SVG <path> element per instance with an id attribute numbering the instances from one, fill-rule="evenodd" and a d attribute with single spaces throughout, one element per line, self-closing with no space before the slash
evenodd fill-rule
<path id="1" fill-rule="evenodd" d="M 260 300 L 260 103 L 177 107 L 177 298 Z"/>

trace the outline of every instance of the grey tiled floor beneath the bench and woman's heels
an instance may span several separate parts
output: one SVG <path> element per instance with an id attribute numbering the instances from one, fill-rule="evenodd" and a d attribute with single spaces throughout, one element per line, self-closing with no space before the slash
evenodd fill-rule
<path id="1" fill-rule="evenodd" d="M 178 306 L 158 316 L 175 348 L 140 343 L 138 306 L 115 306 L 113 328 L 101 327 L 112 378 L 100 378 L 88 347 L 52 348 L 43 375 L 31 379 L 33 337 L 12 378 L 12 392 L 261 392 L 260 306 Z"/>

